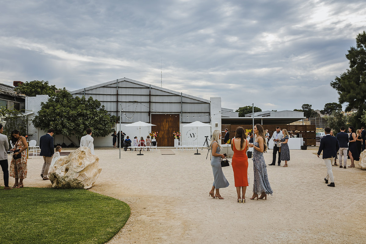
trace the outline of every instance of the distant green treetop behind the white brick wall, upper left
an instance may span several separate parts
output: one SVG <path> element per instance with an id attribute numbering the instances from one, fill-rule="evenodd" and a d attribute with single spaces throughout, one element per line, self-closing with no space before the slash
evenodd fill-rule
<path id="1" fill-rule="evenodd" d="M 18 93 L 25 94 L 29 97 L 36 97 L 36 95 L 48 95 L 52 97 L 56 95 L 55 90 L 59 90 L 55 85 L 48 85 L 48 81 L 40 81 L 33 80 L 31 82 L 24 82 L 22 85 L 19 85 L 18 88 L 15 88 L 15 91 Z"/>

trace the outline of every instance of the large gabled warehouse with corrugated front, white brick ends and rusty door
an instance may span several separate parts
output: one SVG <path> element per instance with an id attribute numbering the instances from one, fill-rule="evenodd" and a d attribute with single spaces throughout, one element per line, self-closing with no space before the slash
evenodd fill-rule
<path id="1" fill-rule="evenodd" d="M 126 127 L 126 124 L 143 121 L 156 126 L 141 127 L 141 136 L 146 138 L 149 132 L 158 132 L 156 138 L 158 146 L 174 146 L 174 131 L 181 132 L 181 139 L 193 141 L 203 145 L 205 136 L 210 136 L 212 131 L 221 131 L 221 117 L 238 117 L 239 113 L 232 109 L 221 108 L 221 97 L 212 97 L 206 100 L 192 95 L 165 89 L 128 78 L 122 78 L 105 82 L 99 85 L 85 87 L 71 91 L 74 97 L 92 97 L 101 102 L 105 109 L 115 116 L 120 115 L 121 127 L 116 124 L 115 130 L 121 130 L 133 140 L 139 136 L 139 128 Z M 31 117 L 37 115 L 40 102 L 46 102 L 47 95 L 26 98 L 26 110 L 32 111 Z M 194 121 L 200 121 L 211 127 L 182 127 Z M 33 128 L 32 139 L 39 142 L 44 133 L 38 128 Z M 198 138 L 197 138 L 198 134 Z M 62 135 L 55 136 L 56 143 L 70 144 Z M 112 137 L 94 138 L 95 147 L 112 146 Z"/>

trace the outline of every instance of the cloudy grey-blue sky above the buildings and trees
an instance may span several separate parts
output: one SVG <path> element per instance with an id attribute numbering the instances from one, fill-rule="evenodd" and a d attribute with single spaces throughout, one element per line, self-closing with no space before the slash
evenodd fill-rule
<path id="1" fill-rule="evenodd" d="M 247 3 L 248 2 L 248 3 Z M 130 78 L 236 109 L 322 109 L 366 30 L 364 0 L 0 0 L 0 82 Z"/>

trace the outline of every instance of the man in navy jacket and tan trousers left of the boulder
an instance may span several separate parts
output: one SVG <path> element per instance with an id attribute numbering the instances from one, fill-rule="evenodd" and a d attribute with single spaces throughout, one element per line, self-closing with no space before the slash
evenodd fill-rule
<path id="1" fill-rule="evenodd" d="M 43 180 L 49 180 L 48 178 L 48 170 L 49 165 L 52 162 L 52 156 L 55 153 L 55 148 L 53 147 L 53 133 L 54 129 L 48 129 L 47 134 L 41 136 L 40 138 L 40 148 L 41 153 L 40 156 L 43 156 L 43 166 L 41 171 L 41 177 Z"/>

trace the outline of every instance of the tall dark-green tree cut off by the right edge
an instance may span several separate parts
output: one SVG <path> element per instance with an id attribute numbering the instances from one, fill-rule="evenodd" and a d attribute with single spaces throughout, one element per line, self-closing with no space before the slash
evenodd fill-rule
<path id="1" fill-rule="evenodd" d="M 347 103 L 346 112 L 357 109 L 354 127 L 361 126 L 361 115 L 366 109 L 366 32 L 356 37 L 356 47 L 351 46 L 346 54 L 350 68 L 336 76 L 330 86 L 337 90 L 339 102 Z"/>

